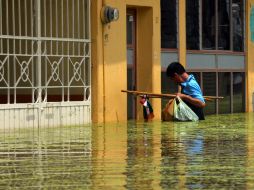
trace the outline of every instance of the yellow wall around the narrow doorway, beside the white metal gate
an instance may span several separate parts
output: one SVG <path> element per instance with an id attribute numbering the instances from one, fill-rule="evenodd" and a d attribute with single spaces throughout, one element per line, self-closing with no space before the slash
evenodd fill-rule
<path id="1" fill-rule="evenodd" d="M 96 0 L 92 2 L 92 120 L 127 119 L 126 9 L 137 9 L 137 90 L 160 92 L 160 1 Z M 119 20 L 102 25 L 102 5 L 119 9 Z M 149 32 L 148 32 L 149 31 Z M 152 102 L 160 118 L 160 100 Z M 140 106 L 140 105 L 139 105 Z"/>

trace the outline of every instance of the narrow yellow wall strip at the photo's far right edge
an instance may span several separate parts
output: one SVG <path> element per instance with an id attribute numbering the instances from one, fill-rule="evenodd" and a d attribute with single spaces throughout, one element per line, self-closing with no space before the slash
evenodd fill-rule
<path id="1" fill-rule="evenodd" d="M 253 111 L 253 93 L 254 93 L 254 43 L 251 42 L 250 33 L 250 11 L 254 7 L 254 0 L 247 0 L 246 4 L 246 28 L 247 28 L 247 55 L 246 55 L 246 75 L 247 75 L 247 111 Z"/>

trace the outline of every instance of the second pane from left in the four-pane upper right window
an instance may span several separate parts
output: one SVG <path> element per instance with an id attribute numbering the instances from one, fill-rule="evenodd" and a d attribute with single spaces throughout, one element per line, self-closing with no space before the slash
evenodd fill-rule
<path id="1" fill-rule="evenodd" d="M 203 49 L 215 49 L 215 1 L 202 1 Z"/>

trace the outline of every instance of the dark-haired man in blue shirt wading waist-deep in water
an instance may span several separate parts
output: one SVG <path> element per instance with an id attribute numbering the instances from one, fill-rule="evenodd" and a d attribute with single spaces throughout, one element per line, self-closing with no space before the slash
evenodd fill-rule
<path id="1" fill-rule="evenodd" d="M 179 62 L 172 62 L 168 66 L 167 76 L 181 87 L 181 93 L 176 95 L 196 113 L 199 120 L 204 120 L 205 100 L 194 76 L 189 75 Z"/>

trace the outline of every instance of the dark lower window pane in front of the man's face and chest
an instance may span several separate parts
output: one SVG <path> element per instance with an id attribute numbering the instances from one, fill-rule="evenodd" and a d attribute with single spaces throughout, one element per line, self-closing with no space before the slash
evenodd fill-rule
<path id="1" fill-rule="evenodd" d="M 178 85 L 167 77 L 166 72 L 161 72 L 161 93 L 173 94 L 178 91 Z M 164 108 L 168 99 L 162 99 L 161 107 Z"/>

